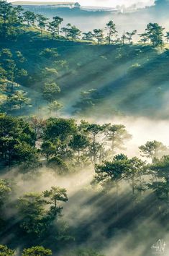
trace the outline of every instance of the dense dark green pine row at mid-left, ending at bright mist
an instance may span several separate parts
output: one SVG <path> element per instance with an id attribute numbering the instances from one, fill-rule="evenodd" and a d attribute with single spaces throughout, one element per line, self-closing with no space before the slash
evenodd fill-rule
<path id="1" fill-rule="evenodd" d="M 47 163 L 58 162 L 65 168 L 68 159 L 77 164 L 101 163 L 131 138 L 121 124 L 99 125 L 83 120 L 78 124 L 74 119 L 44 120 L 36 116 L 25 121 L 6 114 L 1 114 L 0 119 L 1 161 L 9 167 L 38 164 L 40 155 L 45 156 Z"/>

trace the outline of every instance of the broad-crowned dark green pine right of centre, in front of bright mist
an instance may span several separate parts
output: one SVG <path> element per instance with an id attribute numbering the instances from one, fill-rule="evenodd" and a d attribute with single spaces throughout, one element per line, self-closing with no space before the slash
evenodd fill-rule
<path id="1" fill-rule="evenodd" d="M 123 154 L 115 155 L 113 161 L 105 161 L 101 165 L 95 166 L 95 181 L 104 189 L 112 189 L 115 185 L 117 195 L 120 183 L 125 180 L 129 181 L 132 186 L 132 195 L 134 195 L 136 190 L 145 190 L 142 176 L 146 174 L 146 170 L 146 163 L 137 157 L 129 159 Z"/>

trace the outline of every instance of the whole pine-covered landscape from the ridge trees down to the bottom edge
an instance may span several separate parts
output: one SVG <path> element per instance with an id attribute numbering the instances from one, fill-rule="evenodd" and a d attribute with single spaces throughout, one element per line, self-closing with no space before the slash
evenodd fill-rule
<path id="1" fill-rule="evenodd" d="M 169 27 L 62 23 L 0 0 L 0 255 L 168 255 Z"/>

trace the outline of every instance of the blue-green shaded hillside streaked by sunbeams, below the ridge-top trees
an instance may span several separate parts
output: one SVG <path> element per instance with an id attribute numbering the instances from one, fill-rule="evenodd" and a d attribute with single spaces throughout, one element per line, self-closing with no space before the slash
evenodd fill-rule
<path id="1" fill-rule="evenodd" d="M 96 115 L 168 116 L 168 48 L 160 52 L 142 45 L 96 46 L 50 40 L 41 37 L 38 30 L 19 35 L 12 45 L 10 41 L 1 41 L 0 46 L 21 51 L 27 59 L 23 67 L 29 76 L 20 81 L 24 87 L 42 93 L 42 70 L 45 67 L 60 69 L 57 83 L 68 114 L 84 111 L 83 114 L 90 116 L 90 106 L 85 103 L 83 106 L 80 93 L 95 89 L 90 96 Z M 52 56 L 46 59 L 40 55 L 45 48 L 57 48 L 58 59 L 65 61 L 63 69 L 58 64 L 53 66 Z"/>

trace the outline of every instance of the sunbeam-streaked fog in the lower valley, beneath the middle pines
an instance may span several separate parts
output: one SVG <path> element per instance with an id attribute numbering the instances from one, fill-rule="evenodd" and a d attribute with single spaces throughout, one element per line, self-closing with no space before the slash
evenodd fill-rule
<path id="1" fill-rule="evenodd" d="M 78 229 L 79 238 L 73 246 L 66 248 L 59 254 L 70 255 L 70 251 L 79 248 L 95 248 L 106 256 L 150 256 L 154 255 L 152 244 L 157 244 L 158 239 L 163 239 L 166 244 L 163 255 L 168 256 L 168 230 L 157 221 L 157 212 L 151 212 L 147 218 L 142 218 L 142 206 L 140 214 L 137 213 L 132 223 L 127 223 L 125 228 L 114 227 L 117 216 L 114 215 L 117 200 L 122 200 L 122 208 L 119 211 L 119 223 L 127 221 L 132 211 L 132 201 L 129 201 L 131 188 L 123 182 L 119 191 L 119 197 L 115 196 L 114 189 L 107 194 L 101 193 L 101 187 L 92 188 L 93 170 L 84 169 L 78 174 L 58 176 L 55 172 L 42 168 L 40 174 L 24 176 L 17 174 L 17 169 L 6 175 L 6 178 L 17 182 L 17 196 L 24 192 L 42 192 L 51 186 L 65 187 L 68 191 L 68 202 L 63 203 L 63 221 L 71 229 Z M 3 177 L 4 178 L 4 177 Z M 145 195 L 148 200 L 149 192 Z M 155 207 L 155 201 L 151 201 L 149 208 Z M 144 207 L 144 205 L 143 205 Z M 8 242 L 12 236 L 4 237 Z M 79 240 L 79 241 L 78 241 Z M 81 240 L 81 242 L 80 242 Z M 18 249 L 19 250 L 19 249 Z M 19 252 L 18 252 L 19 253 Z M 55 254 L 54 254 L 55 255 Z M 58 255 L 58 254 L 56 254 Z"/>

